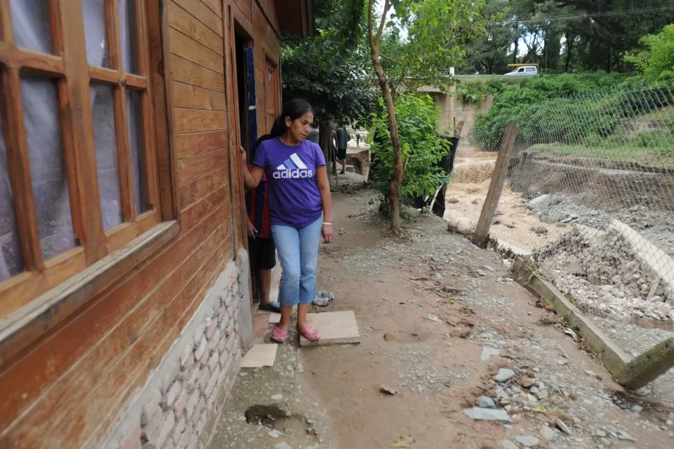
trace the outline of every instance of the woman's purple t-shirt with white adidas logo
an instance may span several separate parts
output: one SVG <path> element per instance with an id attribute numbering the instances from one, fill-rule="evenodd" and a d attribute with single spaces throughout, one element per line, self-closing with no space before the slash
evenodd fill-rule
<path id="1" fill-rule="evenodd" d="M 323 207 L 316 168 L 325 165 L 325 158 L 318 145 L 303 140 L 291 147 L 279 138 L 265 140 L 256 149 L 253 163 L 267 175 L 272 225 L 301 228 L 320 218 Z"/>

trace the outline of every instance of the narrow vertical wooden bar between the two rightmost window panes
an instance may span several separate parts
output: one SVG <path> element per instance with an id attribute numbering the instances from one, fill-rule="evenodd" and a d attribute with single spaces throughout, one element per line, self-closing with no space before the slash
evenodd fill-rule
<path id="1" fill-rule="evenodd" d="M 106 3 L 108 18 L 108 42 L 110 48 L 110 68 L 117 70 L 120 79 L 124 76 L 122 64 L 122 36 L 120 35 L 120 10 L 117 0 L 108 0 Z M 133 204 L 133 178 L 131 177 L 131 150 L 129 149 L 129 123 L 126 121 L 126 86 L 120 83 L 113 89 L 115 104 L 115 140 L 117 140 L 117 159 L 120 172 L 120 197 L 124 221 L 135 220 L 135 205 Z"/>

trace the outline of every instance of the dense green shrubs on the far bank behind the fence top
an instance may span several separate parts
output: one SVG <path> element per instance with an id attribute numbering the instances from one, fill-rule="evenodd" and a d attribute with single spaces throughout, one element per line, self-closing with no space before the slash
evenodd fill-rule
<path id="1" fill-rule="evenodd" d="M 636 85 L 641 89 L 635 91 Z M 649 88 L 641 79 L 627 81 L 602 72 L 539 76 L 496 96 L 491 110 L 477 117 L 473 135 L 479 147 L 496 151 L 505 127 L 517 124 L 529 142 L 577 145 L 588 138 L 608 138 L 623 120 L 671 105 L 673 89 Z"/>

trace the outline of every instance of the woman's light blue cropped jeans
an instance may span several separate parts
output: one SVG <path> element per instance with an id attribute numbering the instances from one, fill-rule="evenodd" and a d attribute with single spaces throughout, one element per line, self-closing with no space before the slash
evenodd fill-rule
<path id="1" fill-rule="evenodd" d="M 303 228 L 272 225 L 272 236 L 281 262 L 279 303 L 293 307 L 316 299 L 316 263 L 323 219 Z"/>

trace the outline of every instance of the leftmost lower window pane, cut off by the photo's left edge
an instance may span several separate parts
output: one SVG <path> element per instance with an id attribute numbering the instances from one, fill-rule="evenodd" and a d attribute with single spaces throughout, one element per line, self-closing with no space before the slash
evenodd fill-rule
<path id="1" fill-rule="evenodd" d="M 2 94 L 0 92 L 0 98 Z M 0 111 L 0 282 L 24 270 Z"/>

